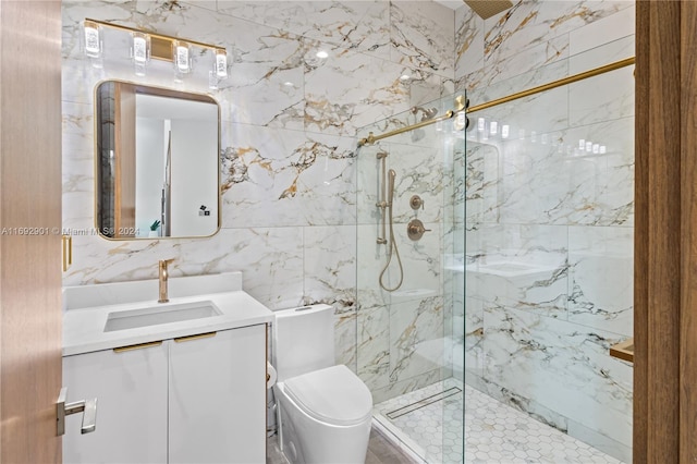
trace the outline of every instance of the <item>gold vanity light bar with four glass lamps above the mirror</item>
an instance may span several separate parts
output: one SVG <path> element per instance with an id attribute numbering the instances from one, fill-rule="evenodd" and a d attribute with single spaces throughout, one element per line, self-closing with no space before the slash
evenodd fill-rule
<path id="1" fill-rule="evenodd" d="M 105 56 L 103 32 L 106 28 L 131 34 L 131 59 L 136 75 L 145 75 L 146 66 L 150 58 L 154 58 L 171 61 L 174 66 L 174 81 L 182 82 L 184 75 L 193 71 L 193 56 L 195 49 L 198 48 L 209 51 L 212 56 L 212 65 L 209 68 L 212 70 L 209 72 L 209 87 L 218 88 L 218 83 L 228 77 L 228 51 L 224 47 L 85 19 L 83 22 L 84 52 L 95 66 L 101 65 L 101 59 Z M 203 56 L 201 53 L 198 57 Z"/>

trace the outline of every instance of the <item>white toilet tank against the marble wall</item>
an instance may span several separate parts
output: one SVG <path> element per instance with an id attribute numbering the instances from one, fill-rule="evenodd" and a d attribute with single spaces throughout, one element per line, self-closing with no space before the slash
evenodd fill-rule
<path id="1" fill-rule="evenodd" d="M 274 312 L 273 356 L 278 381 L 333 366 L 334 312 L 311 305 Z"/>

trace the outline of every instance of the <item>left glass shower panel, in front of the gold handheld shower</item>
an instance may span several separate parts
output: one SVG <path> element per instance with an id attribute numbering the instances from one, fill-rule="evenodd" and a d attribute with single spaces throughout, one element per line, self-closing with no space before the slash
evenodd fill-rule
<path id="1" fill-rule="evenodd" d="M 423 126 L 358 150 L 357 366 L 380 427 L 462 462 L 464 93 L 363 127 Z"/>

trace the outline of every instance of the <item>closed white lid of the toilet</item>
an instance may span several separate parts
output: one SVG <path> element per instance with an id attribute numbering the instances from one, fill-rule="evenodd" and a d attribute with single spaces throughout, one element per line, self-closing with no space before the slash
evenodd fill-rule
<path id="1" fill-rule="evenodd" d="M 372 408 L 370 390 L 344 365 L 288 379 L 285 392 L 307 414 L 333 425 L 360 423 Z"/>

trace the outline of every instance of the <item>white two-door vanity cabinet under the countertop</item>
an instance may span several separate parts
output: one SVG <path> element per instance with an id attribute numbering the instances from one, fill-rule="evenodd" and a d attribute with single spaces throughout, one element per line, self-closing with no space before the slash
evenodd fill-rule
<path id="1" fill-rule="evenodd" d="M 63 358 L 68 401 L 97 398 L 97 428 L 69 416 L 63 462 L 265 463 L 266 323 Z"/>

